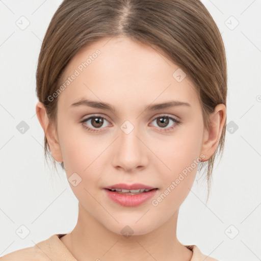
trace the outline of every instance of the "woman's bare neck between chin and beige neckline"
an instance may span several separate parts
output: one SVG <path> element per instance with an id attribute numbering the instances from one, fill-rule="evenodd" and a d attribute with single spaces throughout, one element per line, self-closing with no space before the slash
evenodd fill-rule
<path id="1" fill-rule="evenodd" d="M 129 237 L 98 223 L 79 204 L 79 217 L 71 233 L 61 238 L 77 260 L 189 261 L 192 251 L 176 238 L 177 213 L 161 227 Z"/>

